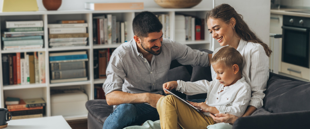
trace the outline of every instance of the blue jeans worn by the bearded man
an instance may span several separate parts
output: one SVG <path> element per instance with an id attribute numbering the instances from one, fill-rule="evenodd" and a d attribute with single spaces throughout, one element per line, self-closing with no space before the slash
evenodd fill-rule
<path id="1" fill-rule="evenodd" d="M 205 102 L 206 99 L 193 99 L 191 102 Z M 156 108 L 148 104 L 120 104 L 104 121 L 103 129 L 122 129 L 132 124 L 141 125 L 147 120 L 159 120 Z"/>

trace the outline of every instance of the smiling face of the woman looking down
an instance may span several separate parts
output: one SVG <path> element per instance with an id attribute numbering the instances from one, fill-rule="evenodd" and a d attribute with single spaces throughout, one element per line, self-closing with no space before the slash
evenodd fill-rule
<path id="1" fill-rule="evenodd" d="M 234 37 L 234 30 L 232 24 L 227 24 L 221 19 L 209 18 L 207 21 L 208 30 L 212 37 L 219 42 L 219 45 L 231 45 Z"/>

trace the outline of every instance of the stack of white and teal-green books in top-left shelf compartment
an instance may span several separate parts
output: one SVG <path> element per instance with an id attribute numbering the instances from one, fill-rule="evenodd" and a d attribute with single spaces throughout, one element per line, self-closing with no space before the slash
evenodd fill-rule
<path id="1" fill-rule="evenodd" d="M 6 21 L 3 50 L 43 48 L 43 21 Z"/>

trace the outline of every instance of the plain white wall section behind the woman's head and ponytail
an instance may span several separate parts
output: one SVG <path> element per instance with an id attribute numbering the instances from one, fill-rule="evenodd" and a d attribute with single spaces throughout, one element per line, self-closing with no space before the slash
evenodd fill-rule
<path id="1" fill-rule="evenodd" d="M 270 0 L 215 0 L 215 6 L 231 5 L 264 43 L 269 45 Z M 215 48 L 219 43 L 215 41 Z"/>

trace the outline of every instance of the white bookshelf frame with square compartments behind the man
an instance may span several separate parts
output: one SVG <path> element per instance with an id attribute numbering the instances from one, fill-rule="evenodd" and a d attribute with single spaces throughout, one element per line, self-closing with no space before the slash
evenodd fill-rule
<path id="1" fill-rule="evenodd" d="M 93 69 L 93 50 L 94 49 L 104 49 L 104 48 L 117 48 L 121 43 L 117 44 L 93 44 L 92 41 L 92 20 L 94 15 L 112 14 L 117 16 L 117 21 L 127 22 L 127 40 L 131 40 L 134 36 L 132 31 L 132 20 L 135 15 L 142 11 L 151 11 L 155 14 L 169 14 L 170 17 L 170 39 L 175 40 L 175 14 L 193 15 L 199 18 L 205 18 L 206 13 L 211 8 L 190 8 L 190 9 L 164 9 L 164 8 L 145 8 L 144 10 L 66 10 L 66 11 L 33 11 L 33 12 L 2 12 L 0 13 L 0 29 L 5 28 L 5 21 L 7 20 L 43 20 L 44 23 L 44 48 L 42 49 L 29 49 L 29 50 L 10 50 L 3 51 L 0 53 L 16 53 L 16 52 L 45 52 L 46 54 L 46 83 L 45 84 L 30 84 L 30 85 L 3 85 L 0 84 L 0 107 L 4 108 L 4 101 L 6 97 L 19 97 L 25 98 L 43 98 L 46 101 L 46 114 L 45 116 L 51 116 L 51 98 L 50 89 L 54 87 L 61 86 L 76 86 L 80 85 L 82 89 L 86 91 L 88 99 L 94 99 L 94 85 L 103 84 L 105 79 L 94 79 L 94 69 Z M 56 20 L 78 20 L 82 19 L 88 23 L 87 33 L 89 34 L 88 45 L 87 46 L 77 46 L 77 47 L 63 47 L 63 48 L 48 48 L 48 28 L 47 24 L 55 23 Z M 207 31 L 207 26 L 205 24 L 205 40 L 198 41 L 184 41 L 181 44 L 187 44 L 194 49 L 206 48 L 210 49 L 210 34 Z M 0 44 L 1 48 L 1 44 Z M 66 83 L 50 83 L 50 66 L 49 66 L 49 53 L 58 51 L 72 51 L 72 50 L 85 50 L 88 55 L 87 61 L 87 81 L 77 81 L 77 82 L 66 82 Z M 2 56 L 0 56 L 0 60 Z M 2 73 L 2 63 L 0 63 L 0 71 Z M 0 74 L 0 82 L 3 76 Z M 74 108 L 74 107 L 70 107 Z M 87 119 L 87 114 L 82 115 L 71 115 L 64 116 L 66 120 L 75 119 Z"/>

